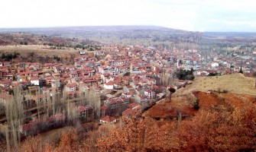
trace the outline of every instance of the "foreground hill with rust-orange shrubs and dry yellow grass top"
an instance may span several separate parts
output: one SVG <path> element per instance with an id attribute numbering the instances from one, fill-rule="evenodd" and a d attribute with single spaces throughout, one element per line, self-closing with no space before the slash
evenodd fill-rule
<path id="1" fill-rule="evenodd" d="M 196 78 L 116 124 L 76 125 L 24 139 L 20 151 L 254 151 L 256 88 L 242 74 Z M 171 99 L 171 100 L 170 100 Z"/>

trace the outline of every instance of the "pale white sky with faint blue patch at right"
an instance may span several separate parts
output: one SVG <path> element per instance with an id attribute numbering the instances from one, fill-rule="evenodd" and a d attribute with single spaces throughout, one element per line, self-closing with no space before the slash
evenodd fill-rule
<path id="1" fill-rule="evenodd" d="M 154 25 L 256 32 L 254 0 L 6 0 L 0 27 Z"/>

